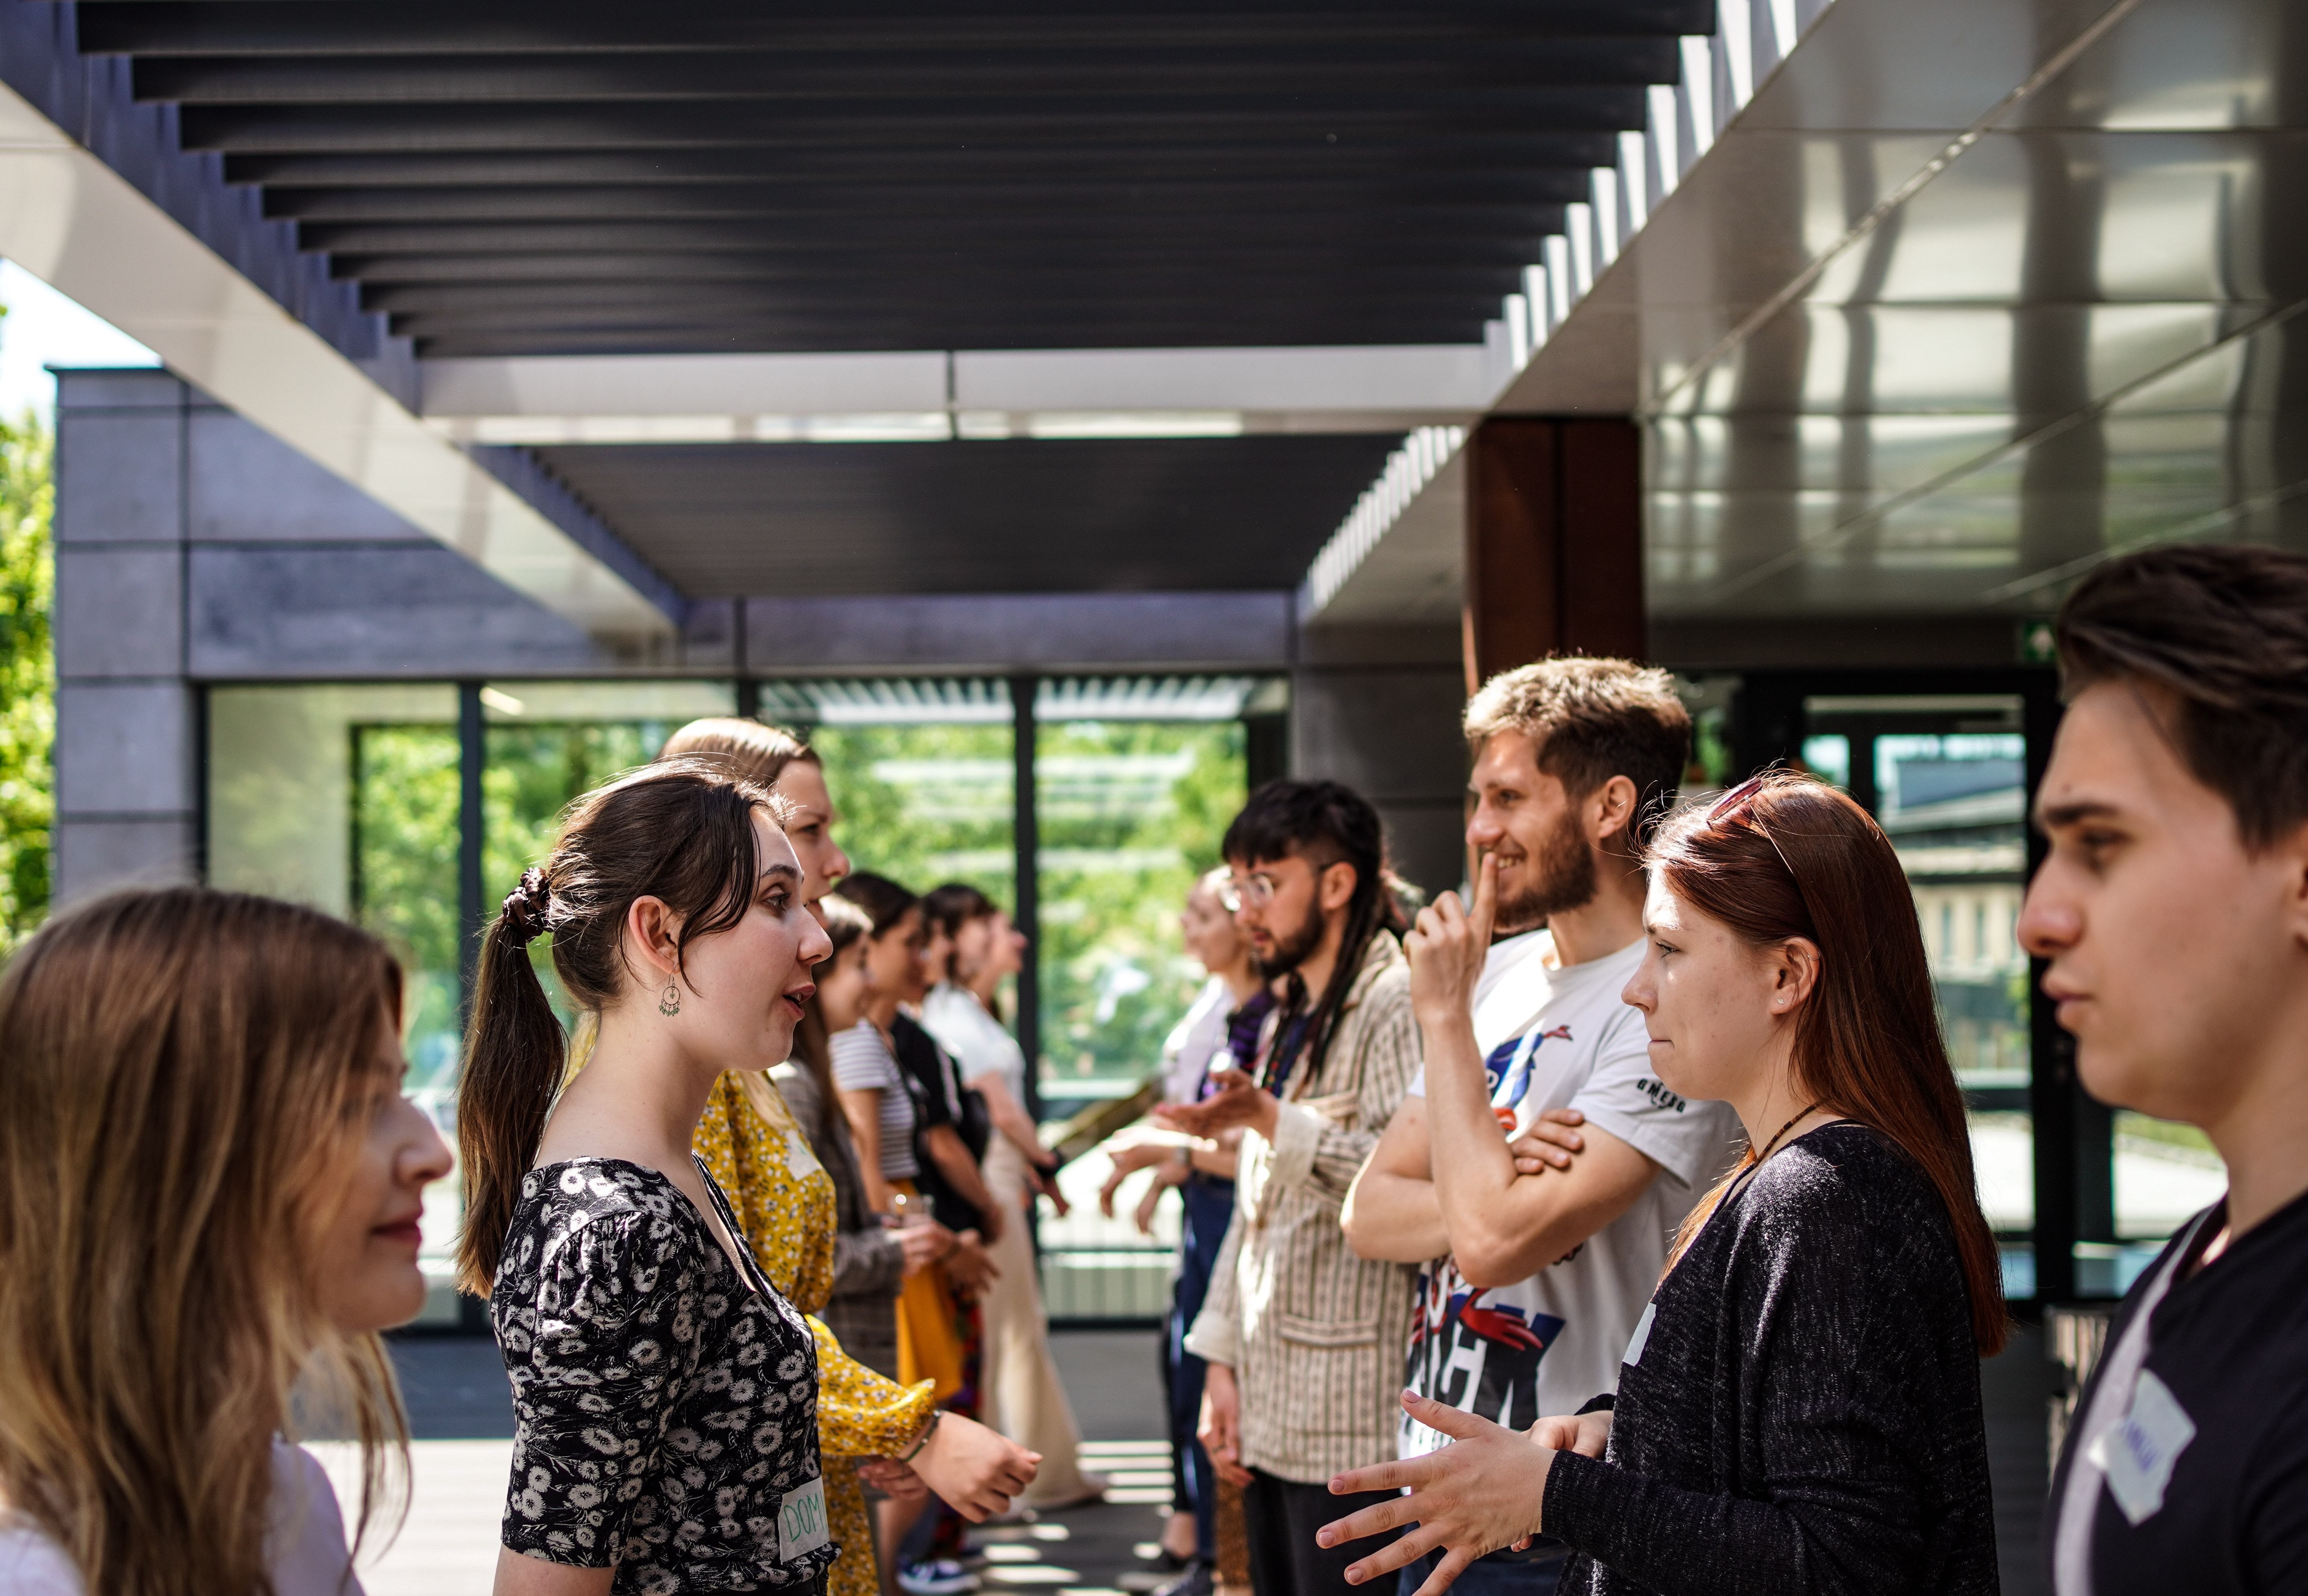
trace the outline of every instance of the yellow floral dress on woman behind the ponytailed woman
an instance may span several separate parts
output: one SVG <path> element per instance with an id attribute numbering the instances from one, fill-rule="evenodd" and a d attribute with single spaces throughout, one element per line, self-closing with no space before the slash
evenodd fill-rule
<path id="1" fill-rule="evenodd" d="M 842 1352 L 815 1315 L 833 1296 L 833 1176 L 778 1086 L 762 1075 L 722 1075 L 697 1123 L 697 1155 L 727 1192 L 769 1282 L 810 1315 L 817 1338 L 817 1448 L 824 1455 L 826 1520 L 842 1554 L 826 1571 L 829 1596 L 875 1596 L 872 1522 L 856 1465 L 902 1453 L 930 1423 L 928 1379 L 900 1386 Z"/>

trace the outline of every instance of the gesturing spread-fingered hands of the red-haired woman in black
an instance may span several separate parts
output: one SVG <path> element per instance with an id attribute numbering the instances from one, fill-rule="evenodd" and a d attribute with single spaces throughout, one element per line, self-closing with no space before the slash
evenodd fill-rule
<path id="1" fill-rule="evenodd" d="M 1403 1497 L 1350 1513 L 1316 1531 L 1318 1545 L 1362 1541 L 1385 1529 L 1417 1525 L 1385 1548 L 1348 1566 L 1350 1584 L 1394 1573 L 1440 1548 L 1442 1559 L 1415 1596 L 1442 1596 L 1470 1561 L 1530 1538 L 1546 1499 L 1553 1448 L 1489 1418 L 1445 1407 L 1412 1391 L 1403 1409 L 1429 1430 L 1454 1437 L 1442 1451 L 1406 1462 L 1348 1469 L 1329 1483 L 1332 1495 L 1408 1490 Z"/>

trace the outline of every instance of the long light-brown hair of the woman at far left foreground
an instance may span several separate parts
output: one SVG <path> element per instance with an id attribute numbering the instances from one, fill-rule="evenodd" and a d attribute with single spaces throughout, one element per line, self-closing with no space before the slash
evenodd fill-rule
<path id="1" fill-rule="evenodd" d="M 360 1529 L 406 1481 L 385 1349 L 312 1287 L 399 996 L 374 936 L 205 888 L 62 913 L 0 978 L 0 1506 L 83 1589 L 268 1594 L 295 1411 L 358 1437 Z"/>

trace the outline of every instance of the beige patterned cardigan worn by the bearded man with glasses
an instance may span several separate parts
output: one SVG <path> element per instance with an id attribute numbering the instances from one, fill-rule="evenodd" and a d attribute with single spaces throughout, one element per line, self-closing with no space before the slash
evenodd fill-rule
<path id="1" fill-rule="evenodd" d="M 1242 1388 L 1242 1462 L 1320 1483 L 1394 1458 L 1415 1268 L 1355 1257 L 1339 1209 L 1419 1068 L 1410 966 L 1378 932 L 1320 1070 L 1242 1137 L 1235 1218 L 1186 1352 Z"/>

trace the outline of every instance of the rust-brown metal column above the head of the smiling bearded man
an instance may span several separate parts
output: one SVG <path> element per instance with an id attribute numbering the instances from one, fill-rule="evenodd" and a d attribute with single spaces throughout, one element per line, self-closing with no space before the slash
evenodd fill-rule
<path id="1" fill-rule="evenodd" d="M 1643 445 L 1634 422 L 1496 417 L 1468 441 L 1468 692 L 1551 653 L 1641 660 Z"/>

